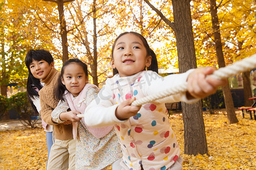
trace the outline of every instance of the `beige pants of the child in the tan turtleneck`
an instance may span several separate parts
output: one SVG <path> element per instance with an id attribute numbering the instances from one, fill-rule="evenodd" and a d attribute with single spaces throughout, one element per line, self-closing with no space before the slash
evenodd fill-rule
<path id="1" fill-rule="evenodd" d="M 47 169 L 75 169 L 76 141 L 55 139 L 49 154 Z"/>

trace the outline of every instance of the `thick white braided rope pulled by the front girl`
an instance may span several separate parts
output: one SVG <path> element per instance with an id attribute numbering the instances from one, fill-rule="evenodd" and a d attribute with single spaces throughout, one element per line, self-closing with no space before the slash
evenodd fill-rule
<path id="1" fill-rule="evenodd" d="M 224 79 L 230 76 L 237 75 L 238 73 L 250 71 L 255 68 L 256 68 L 256 54 L 253 54 L 253 56 L 251 57 L 247 57 L 242 59 L 241 61 L 237 61 L 233 63 L 233 65 L 221 67 L 220 69 L 214 71 L 213 74 L 209 76 L 212 76 L 213 78 L 216 78 L 216 79 Z M 169 88 L 165 91 L 158 92 L 158 94 L 145 96 L 142 99 L 135 100 L 133 101 L 133 103 L 131 103 L 131 105 L 139 106 L 142 104 L 149 103 L 151 101 L 163 99 L 164 97 L 168 97 L 168 96 L 175 95 L 185 91 L 187 91 L 187 82 L 179 86 Z"/>

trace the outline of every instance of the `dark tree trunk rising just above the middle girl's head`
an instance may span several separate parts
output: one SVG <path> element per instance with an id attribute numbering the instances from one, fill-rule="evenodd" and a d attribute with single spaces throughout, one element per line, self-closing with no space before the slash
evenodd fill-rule
<path id="1" fill-rule="evenodd" d="M 65 62 L 68 60 L 68 38 L 67 38 L 67 27 L 64 16 L 64 2 L 63 0 L 57 1 L 59 18 L 60 18 L 60 35 L 61 35 L 61 44 L 62 44 L 62 61 Z"/>

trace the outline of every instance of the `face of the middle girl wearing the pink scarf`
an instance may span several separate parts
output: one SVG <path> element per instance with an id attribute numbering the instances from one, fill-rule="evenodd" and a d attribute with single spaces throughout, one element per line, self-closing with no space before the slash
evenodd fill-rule
<path id="1" fill-rule="evenodd" d="M 88 76 L 85 75 L 84 69 L 77 63 L 70 63 L 64 67 L 64 73 L 61 82 L 67 90 L 76 97 L 88 83 Z"/>

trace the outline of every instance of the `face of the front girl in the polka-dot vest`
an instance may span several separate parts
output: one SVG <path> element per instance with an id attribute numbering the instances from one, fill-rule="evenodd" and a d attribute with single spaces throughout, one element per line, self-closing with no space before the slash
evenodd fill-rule
<path id="1" fill-rule="evenodd" d="M 151 56 L 147 56 L 141 39 L 132 33 L 119 37 L 114 51 L 112 67 L 117 69 L 121 77 L 131 76 L 151 65 Z"/>

